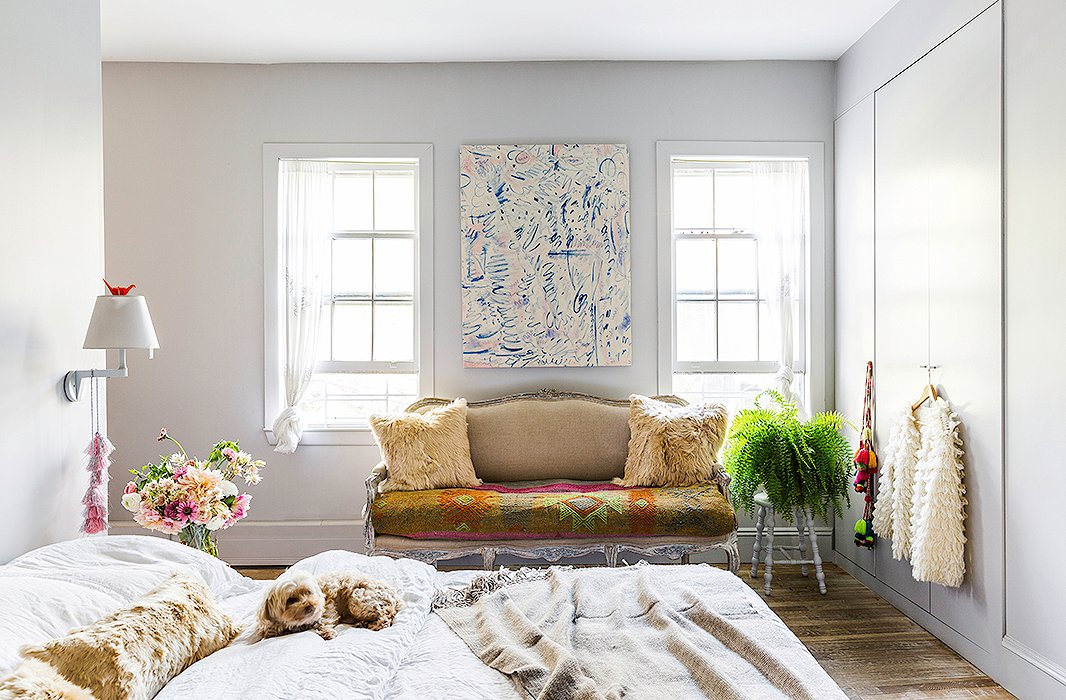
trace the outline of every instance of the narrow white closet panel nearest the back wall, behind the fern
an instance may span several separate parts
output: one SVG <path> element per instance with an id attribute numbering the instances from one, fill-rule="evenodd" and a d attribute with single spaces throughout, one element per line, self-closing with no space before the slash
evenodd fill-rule
<path id="1" fill-rule="evenodd" d="M 856 425 L 862 419 L 866 363 L 873 359 L 873 96 L 836 124 L 836 408 Z M 858 434 L 847 428 L 855 444 Z M 851 493 L 844 517 L 836 519 L 837 552 L 871 574 L 874 554 L 853 543 L 862 518 L 862 493 Z"/>

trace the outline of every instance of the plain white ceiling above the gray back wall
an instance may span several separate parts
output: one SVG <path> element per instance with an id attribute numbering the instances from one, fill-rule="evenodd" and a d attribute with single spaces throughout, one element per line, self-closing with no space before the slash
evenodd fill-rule
<path id="1" fill-rule="evenodd" d="M 835 60 L 898 0 L 102 0 L 104 61 Z"/>

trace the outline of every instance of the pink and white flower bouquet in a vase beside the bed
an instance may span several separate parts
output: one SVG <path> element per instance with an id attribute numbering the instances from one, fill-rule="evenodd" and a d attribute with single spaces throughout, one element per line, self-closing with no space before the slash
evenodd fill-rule
<path id="1" fill-rule="evenodd" d="M 161 455 L 157 465 L 131 469 L 134 479 L 126 485 L 123 507 L 142 527 L 177 535 L 182 544 L 219 556 L 215 533 L 248 515 L 252 502 L 235 479 L 258 484 L 266 462 L 228 440 L 215 444 L 206 460 L 190 457 L 166 428 L 158 440 L 169 440 L 178 452 Z"/>

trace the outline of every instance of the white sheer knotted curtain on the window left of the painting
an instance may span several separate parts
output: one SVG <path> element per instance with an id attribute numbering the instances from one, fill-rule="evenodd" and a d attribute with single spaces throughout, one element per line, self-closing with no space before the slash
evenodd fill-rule
<path id="1" fill-rule="evenodd" d="M 274 420 L 275 452 L 291 453 L 303 437 L 296 406 L 304 397 L 318 357 L 323 271 L 333 227 L 333 178 L 316 161 L 280 162 L 277 227 L 285 274 L 281 320 L 285 408 Z"/>

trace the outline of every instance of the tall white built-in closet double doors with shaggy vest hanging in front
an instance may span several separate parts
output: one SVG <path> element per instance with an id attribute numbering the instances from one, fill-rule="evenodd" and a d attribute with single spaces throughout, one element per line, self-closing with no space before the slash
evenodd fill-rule
<path id="1" fill-rule="evenodd" d="M 878 434 L 935 365 L 970 501 L 962 588 L 915 582 L 888 547 L 877 576 L 985 649 L 1002 634 L 1000 32 L 995 5 L 875 95 Z"/>

